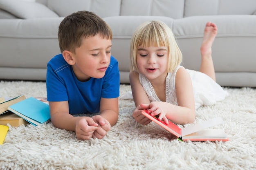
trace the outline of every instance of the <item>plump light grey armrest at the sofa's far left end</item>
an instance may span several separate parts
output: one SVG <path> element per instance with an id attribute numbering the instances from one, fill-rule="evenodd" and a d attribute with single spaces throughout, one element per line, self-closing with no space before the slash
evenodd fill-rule
<path id="1" fill-rule="evenodd" d="M 0 0 L 0 9 L 21 19 L 59 17 L 45 5 L 21 0 Z"/>

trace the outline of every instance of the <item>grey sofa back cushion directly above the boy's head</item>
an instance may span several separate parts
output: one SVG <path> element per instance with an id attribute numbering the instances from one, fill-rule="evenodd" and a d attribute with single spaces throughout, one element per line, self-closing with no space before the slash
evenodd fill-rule
<path id="1" fill-rule="evenodd" d="M 101 18 L 118 16 L 120 5 L 121 0 L 48 0 L 47 2 L 47 7 L 61 17 L 83 10 L 92 11 Z"/>

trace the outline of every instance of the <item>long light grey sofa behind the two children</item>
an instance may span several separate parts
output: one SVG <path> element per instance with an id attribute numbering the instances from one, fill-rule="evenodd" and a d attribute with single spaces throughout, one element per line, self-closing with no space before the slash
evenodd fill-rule
<path id="1" fill-rule="evenodd" d="M 45 80 L 46 64 L 60 53 L 58 25 L 68 14 L 88 10 L 112 28 L 112 55 L 121 83 L 129 83 L 130 38 L 147 20 L 173 30 L 183 65 L 198 70 L 204 26 L 218 26 L 213 44 L 221 86 L 256 87 L 256 0 L 0 0 L 0 79 Z"/>

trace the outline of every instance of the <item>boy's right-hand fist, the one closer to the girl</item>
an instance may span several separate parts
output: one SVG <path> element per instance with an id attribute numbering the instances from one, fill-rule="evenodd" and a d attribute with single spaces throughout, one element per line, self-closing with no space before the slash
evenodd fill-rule
<path id="1" fill-rule="evenodd" d="M 99 124 L 98 129 L 94 131 L 92 137 L 97 137 L 98 139 L 102 139 L 104 136 L 107 135 L 108 131 L 111 128 L 110 123 L 108 120 L 104 119 L 100 115 L 93 116 L 92 119 Z"/>

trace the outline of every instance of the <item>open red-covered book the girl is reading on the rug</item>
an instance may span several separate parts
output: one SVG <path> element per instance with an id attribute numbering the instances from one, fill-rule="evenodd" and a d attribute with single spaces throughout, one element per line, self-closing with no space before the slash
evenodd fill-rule
<path id="1" fill-rule="evenodd" d="M 211 126 L 215 126 L 223 123 L 221 117 L 217 117 L 208 121 L 203 121 L 199 124 L 194 124 L 187 126 L 185 128 L 180 128 L 173 122 L 169 121 L 168 125 L 157 119 L 157 117 L 150 115 L 147 110 L 141 112 L 148 119 L 154 121 L 159 126 L 171 132 L 173 135 L 177 136 L 180 140 L 186 141 L 228 141 L 228 137 L 224 130 L 222 129 L 207 129 Z"/>

